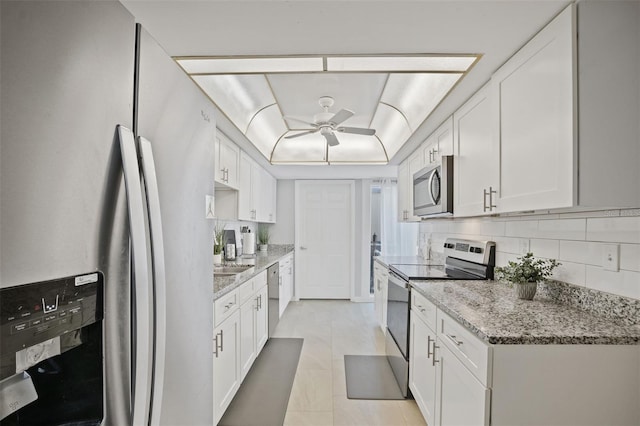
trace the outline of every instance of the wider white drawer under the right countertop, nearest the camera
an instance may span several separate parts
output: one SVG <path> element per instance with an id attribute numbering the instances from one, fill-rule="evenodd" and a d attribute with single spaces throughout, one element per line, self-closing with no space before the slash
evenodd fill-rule
<path id="1" fill-rule="evenodd" d="M 484 386 L 489 387 L 491 348 L 442 311 L 438 311 L 438 325 L 438 340 L 447 345 Z"/>

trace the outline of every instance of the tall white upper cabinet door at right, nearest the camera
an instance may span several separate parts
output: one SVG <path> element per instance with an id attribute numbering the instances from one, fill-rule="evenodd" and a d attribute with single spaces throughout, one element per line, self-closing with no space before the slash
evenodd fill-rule
<path id="1" fill-rule="evenodd" d="M 575 64 L 575 8 L 568 7 L 492 76 L 498 212 L 575 204 Z"/>

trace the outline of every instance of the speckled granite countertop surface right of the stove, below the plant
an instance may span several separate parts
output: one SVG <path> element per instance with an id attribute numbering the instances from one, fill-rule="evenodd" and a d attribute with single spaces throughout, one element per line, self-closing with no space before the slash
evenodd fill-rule
<path id="1" fill-rule="evenodd" d="M 411 281 L 411 286 L 491 344 L 639 345 L 640 324 L 625 324 L 536 294 L 520 300 L 496 281 Z"/>

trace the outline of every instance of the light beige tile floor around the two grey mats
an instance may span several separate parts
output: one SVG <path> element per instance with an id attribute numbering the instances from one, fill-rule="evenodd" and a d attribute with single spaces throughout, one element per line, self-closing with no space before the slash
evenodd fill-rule
<path id="1" fill-rule="evenodd" d="M 292 302 L 274 337 L 304 338 L 285 426 L 426 424 L 413 400 L 347 399 L 344 355 L 384 354 L 372 303 Z"/>

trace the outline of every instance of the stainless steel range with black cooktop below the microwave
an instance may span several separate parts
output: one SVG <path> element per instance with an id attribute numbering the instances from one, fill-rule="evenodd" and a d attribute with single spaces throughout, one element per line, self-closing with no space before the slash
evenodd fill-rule
<path id="1" fill-rule="evenodd" d="M 409 395 L 410 280 L 487 280 L 493 278 L 495 243 L 448 238 L 444 265 L 389 266 L 386 354 L 398 385 Z"/>

